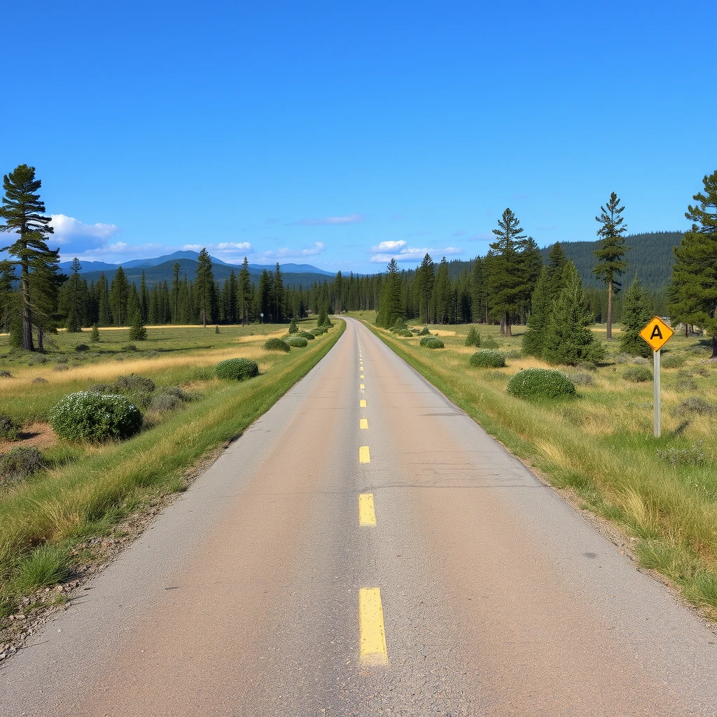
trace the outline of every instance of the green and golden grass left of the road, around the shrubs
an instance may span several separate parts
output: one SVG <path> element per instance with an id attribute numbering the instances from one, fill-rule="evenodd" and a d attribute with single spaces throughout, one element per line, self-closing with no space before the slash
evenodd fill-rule
<path id="1" fill-rule="evenodd" d="M 311 326 L 315 322 L 302 328 Z M 345 327 L 338 322 L 306 348 L 290 353 L 262 348 L 267 336 L 280 336 L 285 326 L 223 327 L 220 334 L 193 327 L 166 328 L 163 335 L 150 331 L 155 341 L 165 341 L 166 350 L 120 351 L 122 361 L 111 360 L 118 354 L 104 333 L 96 350 L 87 352 L 95 353 L 94 360 L 67 370 L 34 365 L 33 357 L 27 366 L 27 354 L 24 365 L 15 361 L 12 376 L 0 384 L 0 412 L 25 424 L 46 419 L 49 407 L 72 391 L 130 372 L 158 386 L 183 386 L 195 400 L 179 412 L 150 417 L 148 427 L 125 442 L 56 442 L 43 451 L 48 470 L 0 492 L 0 619 L 16 609 L 19 597 L 67 579 L 82 559 L 76 548 L 88 537 L 108 533 L 158 496 L 184 490 L 188 470 L 272 407 L 326 356 Z M 77 335 L 57 338 L 58 344 L 63 341 L 77 343 Z M 116 341 L 126 343 L 126 337 Z M 66 348 L 63 343 L 57 355 L 51 353 L 49 364 L 64 366 L 57 358 L 62 359 Z M 233 356 L 257 361 L 260 376 L 238 382 L 216 379 L 214 366 Z M 38 375 L 47 382 L 34 384 Z"/>

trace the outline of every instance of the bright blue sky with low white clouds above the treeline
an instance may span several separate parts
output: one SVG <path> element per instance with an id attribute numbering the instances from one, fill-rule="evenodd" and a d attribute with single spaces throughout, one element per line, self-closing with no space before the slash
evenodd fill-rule
<path id="1" fill-rule="evenodd" d="M 686 227 L 717 169 L 717 4 L 14 3 L 0 172 L 37 168 L 63 259 L 405 267 Z M 26 57 L 27 56 L 27 57 Z M 15 79 L 32 78 L 31 91 Z"/>

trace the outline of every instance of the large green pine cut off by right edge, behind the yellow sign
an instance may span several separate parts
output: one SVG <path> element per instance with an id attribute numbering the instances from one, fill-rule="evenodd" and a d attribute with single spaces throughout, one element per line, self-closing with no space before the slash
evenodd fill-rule
<path id="1" fill-rule="evenodd" d="M 703 178 L 685 217 L 692 227 L 675 247 L 668 311 L 675 321 L 703 328 L 717 358 L 717 171 Z"/>

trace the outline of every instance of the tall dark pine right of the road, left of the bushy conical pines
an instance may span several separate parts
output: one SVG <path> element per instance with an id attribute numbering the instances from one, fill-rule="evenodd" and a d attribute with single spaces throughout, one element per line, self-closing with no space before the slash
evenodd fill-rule
<path id="1" fill-rule="evenodd" d="M 500 333 L 512 336 L 511 323 L 518 313 L 523 293 L 521 257 L 518 249 L 526 235 L 511 209 L 505 209 L 498 219 L 498 229 L 493 229 L 498 239 L 490 244 L 493 261 L 490 262 L 488 290 L 493 300 L 493 313 L 500 318 Z"/>

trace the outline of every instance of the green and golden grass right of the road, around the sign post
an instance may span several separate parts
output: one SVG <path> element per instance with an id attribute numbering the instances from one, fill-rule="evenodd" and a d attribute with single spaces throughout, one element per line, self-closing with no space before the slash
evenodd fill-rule
<path id="1" fill-rule="evenodd" d="M 522 355 L 520 335 L 476 327 L 484 340 L 498 341 L 507 366 L 475 369 L 468 359 L 477 349 L 464 345 L 470 326 L 429 327 L 445 343 L 432 350 L 417 337 L 376 328 L 368 312 L 357 318 L 513 454 L 570 490 L 581 508 L 617 524 L 642 566 L 717 619 L 717 366 L 707 346 L 674 336 L 663 351 L 671 368 L 662 371 L 663 435 L 656 439 L 652 381 L 625 378 L 632 360 L 617 341 L 604 341 L 607 359 L 596 371 L 559 367 L 574 378 L 576 399 L 526 402 L 505 391 L 508 380 L 548 366 Z M 596 333 L 604 340 L 604 329 Z"/>

